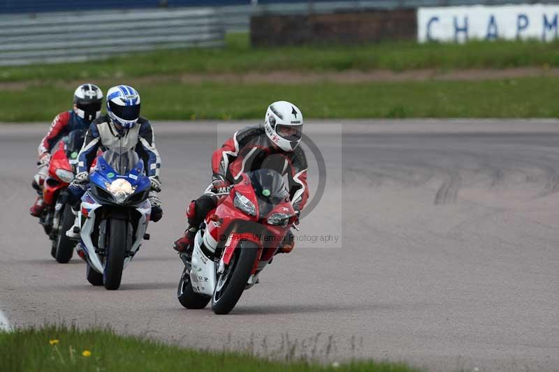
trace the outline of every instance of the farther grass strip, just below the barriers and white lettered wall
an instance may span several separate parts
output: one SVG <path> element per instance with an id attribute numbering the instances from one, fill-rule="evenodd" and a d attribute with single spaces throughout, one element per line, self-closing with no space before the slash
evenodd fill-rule
<path id="1" fill-rule="evenodd" d="M 226 47 L 160 50 L 104 61 L 2 68 L 0 82 L 129 79 L 182 73 L 247 73 L 277 70 L 440 70 L 559 66 L 559 42 L 472 41 L 466 45 L 386 42 L 252 48 L 247 34 L 227 36 Z"/>

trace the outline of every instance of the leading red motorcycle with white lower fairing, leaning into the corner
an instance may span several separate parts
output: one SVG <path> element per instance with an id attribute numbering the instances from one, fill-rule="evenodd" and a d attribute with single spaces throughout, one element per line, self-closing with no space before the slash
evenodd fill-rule
<path id="1" fill-rule="evenodd" d="M 295 221 L 281 174 L 268 169 L 242 174 L 201 225 L 192 255 L 180 255 L 180 304 L 205 308 L 211 299 L 214 313 L 231 311 L 242 292 L 258 283 Z"/>

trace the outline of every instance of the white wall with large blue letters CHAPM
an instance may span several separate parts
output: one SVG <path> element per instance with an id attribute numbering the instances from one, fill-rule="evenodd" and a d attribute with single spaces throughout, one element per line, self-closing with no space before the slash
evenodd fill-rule
<path id="1" fill-rule="evenodd" d="M 449 6 L 417 10 L 419 43 L 558 37 L 558 5 Z"/>

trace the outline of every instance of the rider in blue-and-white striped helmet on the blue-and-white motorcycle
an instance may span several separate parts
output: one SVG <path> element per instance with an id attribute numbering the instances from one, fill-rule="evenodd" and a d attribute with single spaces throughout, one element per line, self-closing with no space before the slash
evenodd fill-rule
<path id="1" fill-rule="evenodd" d="M 78 174 L 68 187 L 71 203 L 77 216 L 80 198 L 85 193 L 91 167 L 97 150 L 133 149 L 143 159 L 147 176 L 152 181 L 149 200 L 152 204 L 150 220 L 157 222 L 163 216 L 161 201 L 157 193 L 161 191 L 159 169 L 161 158 L 155 148 L 155 135 L 150 121 L 140 116 L 140 94 L 128 85 L 117 85 L 107 92 L 107 114 L 95 119 L 85 135 L 85 142 L 78 154 Z M 77 239 L 80 231 L 78 218 L 74 226 L 66 232 L 68 237 Z"/>

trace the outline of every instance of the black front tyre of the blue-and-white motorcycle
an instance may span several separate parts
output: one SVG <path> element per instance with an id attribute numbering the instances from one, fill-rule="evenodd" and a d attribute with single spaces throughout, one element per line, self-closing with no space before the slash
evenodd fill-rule
<path id="1" fill-rule="evenodd" d="M 124 253 L 131 246 L 132 232 L 128 231 L 128 221 L 111 218 L 108 223 L 110 228 L 103 283 L 106 289 L 117 290 L 124 269 Z"/>

